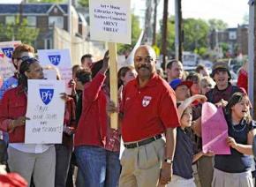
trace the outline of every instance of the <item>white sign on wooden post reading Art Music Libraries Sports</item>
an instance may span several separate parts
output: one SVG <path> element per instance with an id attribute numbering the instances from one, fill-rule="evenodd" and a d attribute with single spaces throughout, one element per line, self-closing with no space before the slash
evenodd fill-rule
<path id="1" fill-rule="evenodd" d="M 131 44 L 131 0 L 90 0 L 91 40 Z"/>

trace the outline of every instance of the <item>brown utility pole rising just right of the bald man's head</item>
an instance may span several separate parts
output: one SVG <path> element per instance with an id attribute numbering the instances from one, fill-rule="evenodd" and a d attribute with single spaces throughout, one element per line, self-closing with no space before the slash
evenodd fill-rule
<path id="1" fill-rule="evenodd" d="M 168 30 L 168 0 L 163 0 L 163 16 L 162 16 L 162 69 L 165 70 L 166 64 L 166 38 Z"/>

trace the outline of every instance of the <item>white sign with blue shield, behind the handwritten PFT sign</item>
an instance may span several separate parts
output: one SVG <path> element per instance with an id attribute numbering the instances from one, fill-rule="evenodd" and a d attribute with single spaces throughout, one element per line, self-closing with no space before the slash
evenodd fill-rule
<path id="1" fill-rule="evenodd" d="M 65 92 L 72 93 L 69 82 L 72 79 L 72 59 L 69 49 L 38 50 L 41 66 L 51 65 L 60 71 L 61 79 L 65 81 Z"/>

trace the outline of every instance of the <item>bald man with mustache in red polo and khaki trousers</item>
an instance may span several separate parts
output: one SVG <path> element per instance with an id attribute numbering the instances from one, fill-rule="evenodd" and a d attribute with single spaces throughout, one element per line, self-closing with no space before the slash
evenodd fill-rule
<path id="1" fill-rule="evenodd" d="M 169 84 L 156 74 L 155 63 L 154 49 L 140 46 L 134 56 L 138 77 L 124 87 L 119 113 L 125 146 L 119 179 L 122 187 L 150 187 L 171 180 L 179 126 L 176 97 Z M 108 110 L 116 111 L 113 103 Z"/>

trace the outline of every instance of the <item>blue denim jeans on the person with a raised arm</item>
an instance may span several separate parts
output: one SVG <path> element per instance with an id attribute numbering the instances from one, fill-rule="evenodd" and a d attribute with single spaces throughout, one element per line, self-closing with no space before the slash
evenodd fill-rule
<path id="1" fill-rule="evenodd" d="M 98 146 L 77 146 L 75 154 L 87 187 L 117 187 L 120 176 L 119 153 Z"/>

